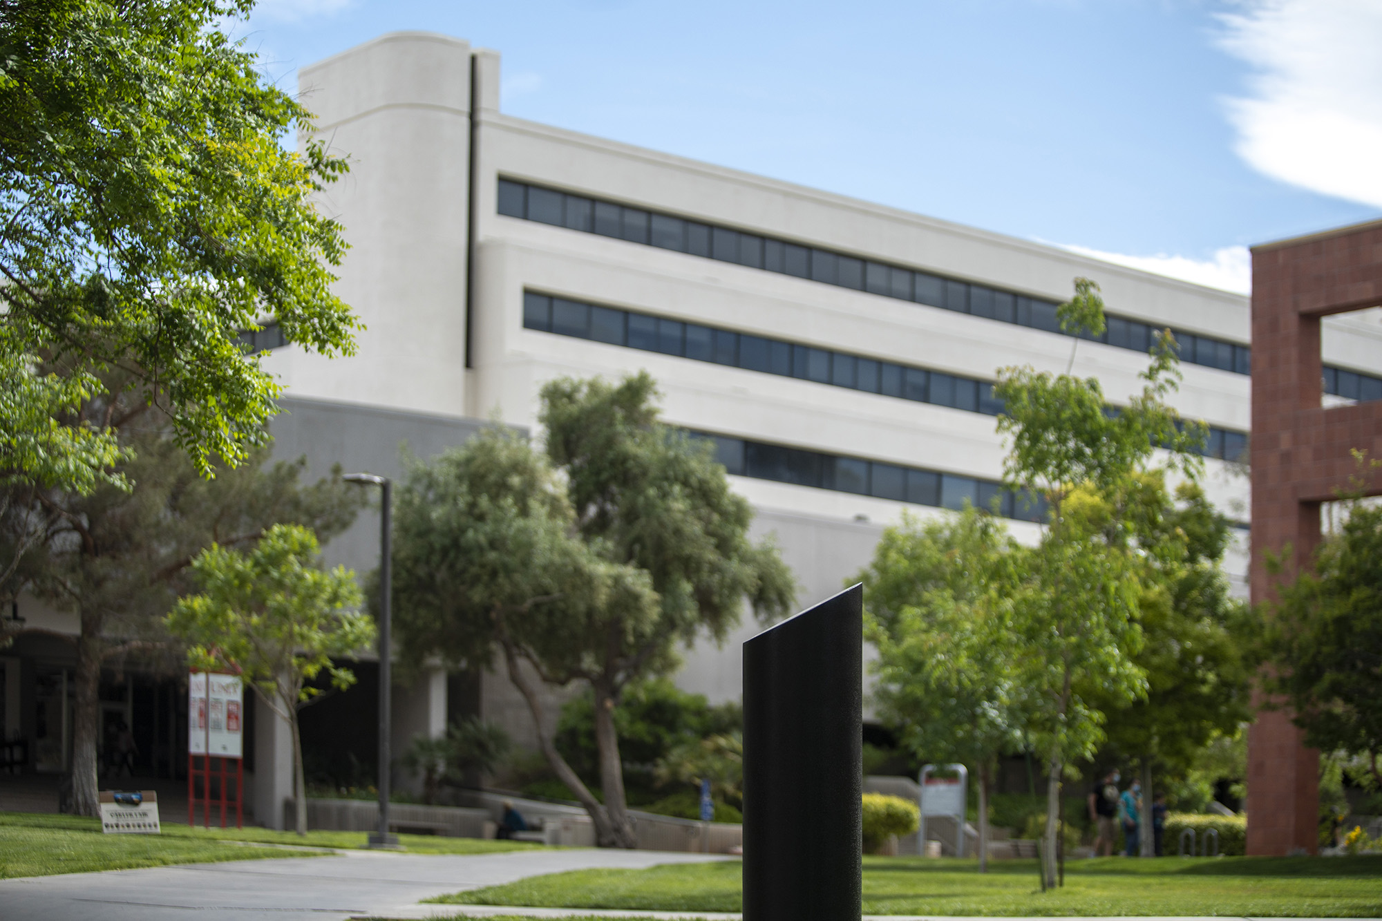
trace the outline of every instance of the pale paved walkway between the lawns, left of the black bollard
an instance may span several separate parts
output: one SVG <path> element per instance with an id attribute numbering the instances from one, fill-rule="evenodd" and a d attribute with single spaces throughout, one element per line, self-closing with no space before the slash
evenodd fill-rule
<path id="1" fill-rule="evenodd" d="M 348 850 L 330 857 L 236 860 L 0 880 L 3 921 L 344 921 L 456 914 L 417 902 L 524 877 L 596 867 L 717 860 L 655 850 L 518 850 L 475 856 Z M 513 911 L 509 910 L 509 914 Z"/>

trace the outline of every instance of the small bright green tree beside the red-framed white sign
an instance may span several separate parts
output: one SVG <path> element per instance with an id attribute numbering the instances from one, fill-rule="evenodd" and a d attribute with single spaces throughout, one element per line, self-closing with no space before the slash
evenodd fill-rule
<path id="1" fill-rule="evenodd" d="M 307 834 L 307 785 L 297 715 L 321 693 L 308 682 L 330 675 L 344 690 L 355 675 L 333 660 L 375 640 L 375 622 L 357 610 L 355 574 L 321 568 L 311 528 L 275 524 L 247 552 L 213 543 L 192 561 L 202 589 L 178 600 L 169 631 L 191 643 L 193 668 L 231 667 L 293 734 L 293 797 L 297 834 Z"/>

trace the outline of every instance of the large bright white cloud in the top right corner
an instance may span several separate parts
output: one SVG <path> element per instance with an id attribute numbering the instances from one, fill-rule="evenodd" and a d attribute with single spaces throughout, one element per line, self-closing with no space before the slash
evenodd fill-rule
<path id="1" fill-rule="evenodd" d="M 1382 207 L 1382 3 L 1240 0 L 1220 44 L 1253 69 L 1227 100 L 1249 166 Z"/>

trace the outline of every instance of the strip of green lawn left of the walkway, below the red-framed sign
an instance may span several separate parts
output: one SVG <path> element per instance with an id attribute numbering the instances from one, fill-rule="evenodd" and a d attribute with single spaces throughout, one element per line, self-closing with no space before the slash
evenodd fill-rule
<path id="1" fill-rule="evenodd" d="M 363 831 L 292 831 L 268 828 L 189 828 L 164 824 L 160 835 L 106 835 L 101 823 L 82 816 L 0 813 L 0 878 L 55 873 L 133 870 L 173 863 L 213 863 L 268 857 L 311 857 L 326 848 L 363 848 Z M 286 845 L 258 848 L 249 845 Z M 513 841 L 399 835 L 409 853 L 491 853 L 532 848 Z M 318 848 L 318 850 L 299 849 Z"/>

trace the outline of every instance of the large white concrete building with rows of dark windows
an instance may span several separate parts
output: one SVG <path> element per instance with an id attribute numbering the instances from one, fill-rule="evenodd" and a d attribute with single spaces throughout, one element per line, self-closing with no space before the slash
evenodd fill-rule
<path id="1" fill-rule="evenodd" d="M 1082 275 L 1110 328 L 1078 344 L 1074 371 L 1126 398 L 1150 331 L 1173 328 L 1175 404 L 1212 426 L 1206 485 L 1247 520 L 1247 480 L 1223 459 L 1249 425 L 1247 297 L 510 118 L 499 72 L 498 53 L 431 33 L 300 72 L 316 136 L 351 162 L 321 203 L 351 243 L 337 292 L 368 331 L 351 358 L 279 347 L 264 360 L 287 386 L 281 456 L 398 473 L 401 441 L 427 456 L 495 415 L 533 430 L 551 378 L 647 369 L 669 423 L 719 437 L 806 606 L 904 510 L 991 498 L 1003 445 L 988 384 L 1005 365 L 1066 369 L 1075 340 L 1054 306 Z M 1382 328 L 1327 322 L 1335 398 L 1382 397 Z M 1035 532 L 1010 499 L 1003 510 Z M 368 570 L 376 541 L 365 516 L 330 555 Z M 1245 560 L 1244 548 L 1230 560 L 1240 586 Z M 738 643 L 756 629 L 746 618 L 723 649 L 688 651 L 677 682 L 738 697 Z M 462 697 L 531 737 L 504 679 L 457 687 L 438 672 L 397 694 L 395 740 L 439 732 Z M 263 751 L 276 747 L 267 733 Z M 260 774 L 271 809 L 283 768 Z"/>

